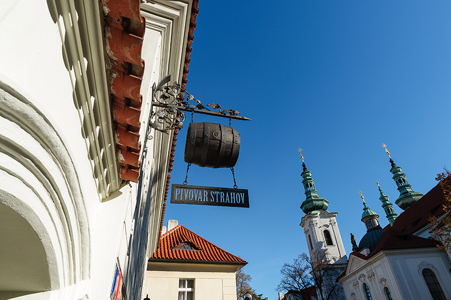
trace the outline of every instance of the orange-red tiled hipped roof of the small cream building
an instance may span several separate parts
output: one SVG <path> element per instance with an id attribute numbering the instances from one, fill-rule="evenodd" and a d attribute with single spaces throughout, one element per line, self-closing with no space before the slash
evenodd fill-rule
<path id="1" fill-rule="evenodd" d="M 192 244 L 195 249 L 175 249 L 184 242 Z M 161 260 L 247 264 L 182 225 L 177 225 L 161 236 L 159 246 L 149 261 Z"/>

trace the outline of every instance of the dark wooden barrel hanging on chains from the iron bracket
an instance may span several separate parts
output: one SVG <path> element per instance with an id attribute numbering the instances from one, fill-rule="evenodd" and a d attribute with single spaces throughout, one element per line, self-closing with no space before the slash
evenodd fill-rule
<path id="1" fill-rule="evenodd" d="M 185 161 L 201 167 L 230 168 L 239 155 L 239 132 L 217 123 L 190 123 Z"/>

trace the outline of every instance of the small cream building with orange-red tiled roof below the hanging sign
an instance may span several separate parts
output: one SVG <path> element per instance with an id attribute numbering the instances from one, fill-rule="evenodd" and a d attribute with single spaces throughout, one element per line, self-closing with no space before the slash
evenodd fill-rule
<path id="1" fill-rule="evenodd" d="M 174 221 L 148 261 L 144 294 L 151 300 L 236 300 L 236 271 L 247 262 Z"/>

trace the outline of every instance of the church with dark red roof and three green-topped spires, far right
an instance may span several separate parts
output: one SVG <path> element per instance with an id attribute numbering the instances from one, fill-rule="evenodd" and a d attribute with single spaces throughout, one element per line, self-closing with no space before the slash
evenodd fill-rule
<path id="1" fill-rule="evenodd" d="M 347 300 L 449 299 L 449 255 L 438 247 L 440 243 L 429 233 L 430 217 L 440 219 L 444 214 L 443 191 L 440 185 L 424 196 L 413 191 L 391 157 L 390 162 L 400 191 L 396 203 L 405 211 L 396 217 L 392 204 L 379 187 L 379 199 L 390 223 L 382 229 L 376 212 L 363 202 L 362 222 L 367 233 L 358 247 L 354 245 L 354 252 L 338 281 L 343 285 Z"/>

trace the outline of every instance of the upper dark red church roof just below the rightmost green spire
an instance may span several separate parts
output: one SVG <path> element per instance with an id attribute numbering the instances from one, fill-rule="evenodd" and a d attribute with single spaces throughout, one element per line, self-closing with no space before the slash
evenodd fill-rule
<path id="1" fill-rule="evenodd" d="M 413 233 L 429 223 L 429 217 L 438 217 L 443 211 L 444 195 L 439 184 L 402 212 L 392 228 L 403 233 Z M 433 212 L 433 213 L 430 213 Z"/>

